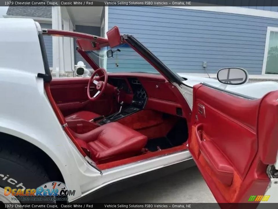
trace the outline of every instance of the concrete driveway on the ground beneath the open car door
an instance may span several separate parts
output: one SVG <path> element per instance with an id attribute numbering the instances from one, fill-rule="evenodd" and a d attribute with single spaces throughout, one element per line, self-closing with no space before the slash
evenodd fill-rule
<path id="1" fill-rule="evenodd" d="M 107 195 L 102 203 L 216 203 L 196 166 Z"/>

